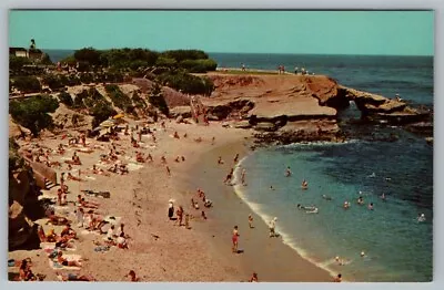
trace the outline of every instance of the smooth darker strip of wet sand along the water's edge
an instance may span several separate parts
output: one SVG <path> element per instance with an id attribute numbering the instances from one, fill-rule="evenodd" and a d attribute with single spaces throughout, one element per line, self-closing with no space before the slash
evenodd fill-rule
<path id="1" fill-rule="evenodd" d="M 216 187 L 214 191 L 211 189 L 211 199 L 215 203 L 213 215 L 218 220 L 218 228 L 206 227 L 202 231 L 206 236 L 215 236 L 215 238 L 212 238 L 213 245 L 220 249 L 221 255 L 225 252 L 226 256 L 233 256 L 230 260 L 241 267 L 244 277 L 258 272 L 259 279 L 266 282 L 331 282 L 332 273 L 302 257 L 297 250 L 282 240 L 282 236 L 270 238 L 265 220 L 251 209 L 250 205 L 235 193 L 233 186 L 222 185 L 224 174 L 230 167 L 228 165 L 232 164 L 229 160 L 236 153 L 240 153 L 242 160 L 251 154 L 251 151 L 242 141 L 221 145 L 204 153 L 201 156 L 203 158 L 194 166 L 198 169 L 191 173 L 191 176 L 194 176 L 191 178 L 202 182 L 201 188 L 205 193 L 208 190 L 204 186 L 212 188 L 212 186 L 215 187 L 213 180 L 221 183 L 221 186 Z M 222 156 L 225 160 L 224 165 L 215 166 L 218 156 Z M 241 160 L 235 168 L 239 168 Z M 205 169 L 202 173 L 202 169 L 199 168 Z M 215 176 L 218 177 L 214 178 Z M 236 178 L 235 176 L 234 179 Z M 254 219 L 253 229 L 248 226 L 249 214 Z M 234 225 L 239 226 L 240 249 L 244 250 L 244 252 L 238 255 L 230 251 L 230 237 Z"/>

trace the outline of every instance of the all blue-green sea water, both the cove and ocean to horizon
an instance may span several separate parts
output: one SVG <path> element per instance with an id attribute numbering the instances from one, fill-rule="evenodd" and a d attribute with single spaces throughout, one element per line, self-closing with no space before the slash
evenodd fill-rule
<path id="1" fill-rule="evenodd" d="M 73 53 L 46 52 L 54 62 Z M 397 93 L 413 105 L 433 108 L 432 56 L 210 53 L 210 58 L 220 68 L 241 68 L 242 63 L 248 69 L 265 70 L 284 65 L 290 72 L 304 68 L 356 90 L 389 97 Z M 347 121 L 359 118 L 353 105 L 341 115 Z M 248 172 L 248 186 L 235 186 L 236 194 L 264 221 L 279 217 L 276 229 L 285 244 L 332 273 L 341 272 L 346 280 L 431 281 L 433 146 L 395 126 L 355 130 L 370 134 L 390 131 L 400 138 L 255 151 L 241 163 Z M 292 177 L 284 177 L 286 166 L 291 166 Z M 301 189 L 304 178 L 307 190 Z M 356 203 L 360 191 L 365 206 Z M 351 203 L 349 210 L 342 208 L 345 200 Z M 374 204 L 374 210 L 367 209 L 369 203 Z M 319 214 L 305 214 L 296 209 L 297 204 L 314 205 Z M 417 221 L 420 214 L 425 215 L 424 222 Z M 346 265 L 335 263 L 336 256 Z"/>

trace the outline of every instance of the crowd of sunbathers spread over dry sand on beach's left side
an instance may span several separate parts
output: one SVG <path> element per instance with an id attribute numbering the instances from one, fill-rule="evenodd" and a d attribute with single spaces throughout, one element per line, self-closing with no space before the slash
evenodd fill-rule
<path id="1" fill-rule="evenodd" d="M 117 128 L 112 128 L 115 133 L 118 132 Z M 140 145 L 134 146 L 135 143 L 141 142 L 141 132 L 139 128 L 132 128 L 132 132 L 139 132 L 138 141 L 130 137 L 131 146 L 138 147 L 139 151 L 135 152 L 135 159 L 138 163 L 144 162 L 153 162 L 153 157 L 151 154 L 144 158 L 143 153 L 140 149 Z M 152 131 L 150 131 L 152 132 Z M 125 126 L 123 136 L 130 135 L 129 127 Z M 102 242 L 94 241 L 95 251 L 108 251 L 110 247 L 117 247 L 120 249 L 129 249 L 128 239 L 130 239 L 129 235 L 124 231 L 124 224 L 118 224 L 118 219 L 112 215 L 105 216 L 103 213 L 100 213 L 100 204 L 93 200 L 87 200 L 84 196 L 81 194 L 77 195 L 77 199 L 72 200 L 69 197 L 72 196 L 72 188 L 69 188 L 68 183 L 70 182 L 83 182 L 84 179 L 81 178 L 82 174 L 88 177 L 88 174 L 94 175 L 103 175 L 110 176 L 110 173 L 120 173 L 120 174 L 129 174 L 129 169 L 127 165 L 121 160 L 121 157 L 124 157 L 125 152 L 119 151 L 117 146 L 119 144 L 113 143 L 120 141 L 123 136 L 117 135 L 110 144 L 110 152 L 109 154 L 102 154 L 100 158 L 100 163 L 104 166 L 112 164 L 111 167 L 108 168 L 108 173 L 102 168 L 98 167 L 98 164 L 92 166 L 92 169 L 80 169 L 83 163 L 80 159 L 78 153 L 90 154 L 95 149 L 103 151 L 103 145 L 93 144 L 93 142 L 87 143 L 87 136 L 84 133 L 81 133 L 78 136 L 70 136 L 64 134 L 61 136 L 62 141 L 68 139 L 68 144 L 60 143 L 57 145 L 56 149 L 40 146 L 37 143 L 28 143 L 28 149 L 23 152 L 23 155 L 29 158 L 31 162 L 43 163 L 53 169 L 62 169 L 63 172 L 60 175 L 60 187 L 57 188 L 57 195 L 54 197 L 46 197 L 47 199 L 53 199 L 56 205 L 47 207 L 46 218 L 47 222 L 44 225 L 40 225 L 38 227 L 38 236 L 41 242 L 41 247 L 48 253 L 49 259 L 52 261 L 57 269 L 62 267 L 82 267 L 82 259 L 70 259 L 69 257 L 65 258 L 64 251 L 65 250 L 75 250 L 75 244 L 79 242 L 79 234 L 78 231 L 87 231 L 87 232 L 98 232 L 99 235 L 104 235 L 104 239 Z M 70 159 L 65 159 L 64 164 L 67 168 L 62 168 L 62 163 L 54 162 L 53 158 L 64 158 L 63 156 L 68 151 L 73 151 L 73 154 Z M 184 156 L 180 157 L 181 162 L 185 160 Z M 161 158 L 162 164 L 167 164 L 165 156 Z M 54 166 L 58 164 L 58 166 Z M 78 168 L 75 168 L 78 167 Z M 73 175 L 74 168 L 78 170 L 78 175 Z M 167 166 L 168 168 L 168 166 Z M 169 168 L 168 168 L 169 169 Z M 171 174 L 171 173 L 170 173 Z M 91 190 L 84 190 L 91 194 Z M 108 196 L 109 193 L 92 193 L 95 194 L 94 196 Z M 92 196 L 92 195 L 91 195 Z M 211 200 L 204 200 L 205 207 L 211 207 Z M 61 213 L 56 214 L 58 208 L 63 209 Z M 102 211 L 102 210 L 101 210 Z M 180 219 L 180 224 L 182 224 L 182 214 L 183 209 L 181 207 L 178 209 L 178 217 Z M 71 215 L 74 216 L 74 219 L 71 218 Z M 170 215 L 170 214 L 169 214 Z M 202 216 L 205 217 L 204 211 L 202 211 Z M 206 217 L 205 217 L 206 218 Z M 185 224 L 188 224 L 188 218 Z M 47 226 L 63 226 L 63 229 L 60 234 L 56 232 L 54 228 L 44 229 L 43 227 Z M 119 226 L 119 230 L 117 230 Z M 74 229 L 75 227 L 77 229 Z M 107 229 L 105 229 L 107 228 Z M 82 234 L 83 235 L 83 234 Z M 49 247 L 50 248 L 46 248 Z M 59 266 L 57 266 L 59 265 Z M 37 276 L 32 275 L 30 270 L 31 262 L 29 260 L 23 260 L 20 262 L 20 271 L 18 279 L 20 280 L 37 280 Z M 56 268 L 54 268 L 56 269 Z M 94 278 L 91 276 L 79 276 L 73 273 L 62 273 L 58 272 L 58 276 L 63 281 L 92 281 Z M 137 281 L 139 278 L 135 277 L 135 272 L 131 270 L 128 275 L 131 281 Z"/>

